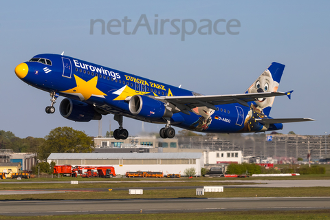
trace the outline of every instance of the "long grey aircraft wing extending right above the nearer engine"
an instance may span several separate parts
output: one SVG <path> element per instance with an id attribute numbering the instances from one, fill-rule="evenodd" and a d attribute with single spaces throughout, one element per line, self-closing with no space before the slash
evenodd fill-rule
<path id="1" fill-rule="evenodd" d="M 217 104 L 231 104 L 239 103 L 245 107 L 249 107 L 248 102 L 256 101 L 259 98 L 268 98 L 274 96 L 289 96 L 290 92 L 263 92 L 254 94 L 234 94 L 234 95 L 219 95 L 219 96 L 160 96 L 155 97 L 159 100 L 166 100 L 171 104 L 174 104 L 179 111 L 190 114 L 188 111 L 195 107 L 208 107 L 210 109 L 217 110 L 214 105 Z"/>

